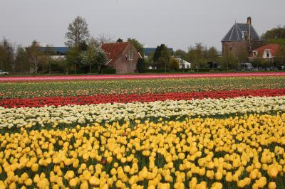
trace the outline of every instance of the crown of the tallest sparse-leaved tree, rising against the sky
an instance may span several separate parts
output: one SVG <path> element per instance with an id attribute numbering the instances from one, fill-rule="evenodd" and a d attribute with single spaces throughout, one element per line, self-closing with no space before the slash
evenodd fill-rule
<path id="1" fill-rule="evenodd" d="M 68 25 L 68 32 L 65 35 L 66 45 L 69 47 L 79 46 L 89 37 L 88 24 L 84 18 L 77 16 L 72 23 Z"/>

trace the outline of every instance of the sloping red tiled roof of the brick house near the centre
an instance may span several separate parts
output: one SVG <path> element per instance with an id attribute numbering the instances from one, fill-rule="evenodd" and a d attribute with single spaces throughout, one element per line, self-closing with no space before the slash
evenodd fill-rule
<path id="1" fill-rule="evenodd" d="M 115 61 L 119 56 L 123 53 L 125 48 L 128 46 L 129 43 L 104 43 L 101 48 L 105 51 L 105 54 L 110 61 L 108 65 L 113 66 Z"/>

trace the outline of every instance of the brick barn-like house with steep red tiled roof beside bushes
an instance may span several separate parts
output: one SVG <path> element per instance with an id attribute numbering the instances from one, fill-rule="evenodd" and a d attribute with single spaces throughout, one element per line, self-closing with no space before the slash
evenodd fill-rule
<path id="1" fill-rule="evenodd" d="M 138 59 L 142 58 L 135 46 L 128 42 L 103 43 L 101 49 L 108 58 L 105 65 L 115 68 L 119 74 L 136 72 Z"/>

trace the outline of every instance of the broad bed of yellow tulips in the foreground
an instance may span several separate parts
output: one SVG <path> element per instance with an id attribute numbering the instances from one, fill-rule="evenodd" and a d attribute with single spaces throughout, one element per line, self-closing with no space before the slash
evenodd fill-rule
<path id="1" fill-rule="evenodd" d="M 0 134 L 0 188 L 276 188 L 285 184 L 284 121 L 257 114 L 23 128 Z"/>

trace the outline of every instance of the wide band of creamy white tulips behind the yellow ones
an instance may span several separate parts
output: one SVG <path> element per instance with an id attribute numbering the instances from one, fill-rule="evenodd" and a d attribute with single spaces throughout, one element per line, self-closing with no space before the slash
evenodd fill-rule
<path id="1" fill-rule="evenodd" d="M 1 129 L 285 111 L 285 96 L 1 108 Z"/>

